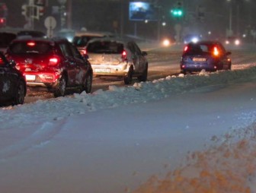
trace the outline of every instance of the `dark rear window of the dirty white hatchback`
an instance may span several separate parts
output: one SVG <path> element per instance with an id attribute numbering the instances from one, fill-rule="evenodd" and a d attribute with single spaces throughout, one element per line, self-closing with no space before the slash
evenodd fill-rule
<path id="1" fill-rule="evenodd" d="M 89 43 L 86 50 L 87 52 L 92 53 L 121 54 L 123 52 L 123 43 L 113 41 L 95 41 L 93 43 Z"/>

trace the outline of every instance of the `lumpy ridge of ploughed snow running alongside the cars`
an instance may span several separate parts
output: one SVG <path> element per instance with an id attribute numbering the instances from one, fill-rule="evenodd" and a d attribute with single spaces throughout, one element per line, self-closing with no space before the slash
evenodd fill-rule
<path id="1" fill-rule="evenodd" d="M 85 114 L 98 109 L 116 108 L 132 103 L 148 103 L 161 100 L 174 94 L 182 94 L 200 87 L 225 87 L 228 84 L 255 80 L 256 67 L 237 71 L 202 71 L 196 75 L 180 74 L 155 81 L 135 83 L 129 87 L 110 86 L 109 90 L 94 93 L 75 93 L 69 97 L 50 100 L 37 100 L 21 106 L 8 106 L 0 109 L 0 129 L 37 125 L 54 122 L 71 115 Z M 11 122 L 9 121 L 11 120 Z"/>

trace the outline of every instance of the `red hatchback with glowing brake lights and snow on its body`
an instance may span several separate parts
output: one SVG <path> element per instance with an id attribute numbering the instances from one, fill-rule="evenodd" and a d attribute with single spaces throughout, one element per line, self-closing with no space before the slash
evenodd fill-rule
<path id="1" fill-rule="evenodd" d="M 69 88 L 91 92 L 90 62 L 66 39 L 14 40 L 6 55 L 25 74 L 29 87 L 46 88 L 55 97 L 65 96 Z"/>

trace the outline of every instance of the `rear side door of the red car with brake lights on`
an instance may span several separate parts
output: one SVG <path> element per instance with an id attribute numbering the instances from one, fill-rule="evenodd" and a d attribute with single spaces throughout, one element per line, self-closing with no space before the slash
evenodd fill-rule
<path id="1" fill-rule="evenodd" d="M 64 68 L 67 71 L 68 74 L 68 86 L 74 86 L 75 85 L 75 75 L 76 75 L 76 62 L 72 55 L 72 50 L 70 49 L 69 43 L 62 42 L 59 43 L 59 48 L 62 51 L 62 55 L 64 57 Z"/>

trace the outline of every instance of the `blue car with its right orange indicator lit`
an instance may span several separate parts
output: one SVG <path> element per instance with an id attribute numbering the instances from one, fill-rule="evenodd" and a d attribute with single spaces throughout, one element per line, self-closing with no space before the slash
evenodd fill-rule
<path id="1" fill-rule="evenodd" d="M 231 59 L 221 43 L 217 41 L 200 41 L 188 43 L 181 57 L 181 73 L 192 71 L 230 70 Z"/>

